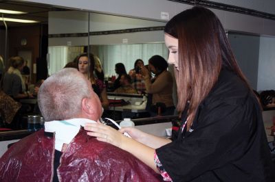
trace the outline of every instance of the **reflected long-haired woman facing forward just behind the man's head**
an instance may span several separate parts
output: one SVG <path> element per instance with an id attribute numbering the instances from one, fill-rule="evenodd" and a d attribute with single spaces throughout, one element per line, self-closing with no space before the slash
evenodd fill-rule
<path id="1" fill-rule="evenodd" d="M 90 59 L 90 66 L 89 64 Z M 83 73 L 89 81 L 91 81 L 91 86 L 94 89 L 94 92 L 98 95 L 100 98 L 102 107 L 104 109 L 108 109 L 109 107 L 109 101 L 107 98 L 107 92 L 106 92 L 106 86 L 104 84 L 104 81 L 101 79 L 96 79 L 94 77 L 94 67 L 95 67 L 95 60 L 94 55 L 90 54 L 88 59 L 87 53 L 82 53 L 78 56 L 77 64 L 78 64 L 78 70 L 80 73 Z"/>

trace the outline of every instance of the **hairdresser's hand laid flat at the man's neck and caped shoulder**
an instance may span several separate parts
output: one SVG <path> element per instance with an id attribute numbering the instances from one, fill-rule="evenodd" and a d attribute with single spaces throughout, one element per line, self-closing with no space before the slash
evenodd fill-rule
<path id="1" fill-rule="evenodd" d="M 84 129 L 88 131 L 87 135 L 94 136 L 99 141 L 113 144 L 119 148 L 121 148 L 122 142 L 126 138 L 122 133 L 101 123 L 86 123 Z"/>

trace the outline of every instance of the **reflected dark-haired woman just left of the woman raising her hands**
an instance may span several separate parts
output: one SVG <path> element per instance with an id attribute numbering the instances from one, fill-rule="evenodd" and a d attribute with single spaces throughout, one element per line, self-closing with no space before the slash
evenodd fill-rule
<path id="1" fill-rule="evenodd" d="M 144 66 L 144 62 L 137 59 L 135 60 L 134 68 L 129 71 L 129 75 L 131 76 L 133 82 L 133 87 L 139 94 L 142 94 L 146 90 L 144 79 L 142 79 L 142 74 L 140 73 L 142 66 Z"/>

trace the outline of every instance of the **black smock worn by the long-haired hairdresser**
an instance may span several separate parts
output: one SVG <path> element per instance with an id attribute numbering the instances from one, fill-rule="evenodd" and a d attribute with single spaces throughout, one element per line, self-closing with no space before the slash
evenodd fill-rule
<path id="1" fill-rule="evenodd" d="M 156 153 L 173 181 L 275 181 L 259 103 L 228 70 L 221 70 L 190 130 L 179 129 Z"/>

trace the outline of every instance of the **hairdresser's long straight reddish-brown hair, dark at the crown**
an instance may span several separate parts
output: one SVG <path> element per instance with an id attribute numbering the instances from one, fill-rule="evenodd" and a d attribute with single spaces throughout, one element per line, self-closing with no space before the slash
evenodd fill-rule
<path id="1" fill-rule="evenodd" d="M 179 40 L 179 71 L 175 69 L 178 105 L 188 108 L 187 128 L 192 125 L 197 108 L 217 82 L 221 68 L 238 75 L 250 88 L 236 63 L 225 30 L 210 10 L 195 6 L 174 16 L 164 29 Z"/>

